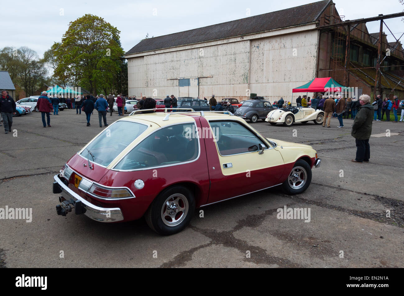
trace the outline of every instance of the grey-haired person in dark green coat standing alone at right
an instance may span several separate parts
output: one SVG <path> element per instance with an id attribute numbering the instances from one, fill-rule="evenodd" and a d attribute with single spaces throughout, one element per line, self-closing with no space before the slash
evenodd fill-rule
<path id="1" fill-rule="evenodd" d="M 359 111 L 353 120 L 351 135 L 356 139 L 356 158 L 352 162 L 369 162 L 369 139 L 372 133 L 373 106 L 370 105 L 370 97 L 362 94 L 359 97 Z"/>

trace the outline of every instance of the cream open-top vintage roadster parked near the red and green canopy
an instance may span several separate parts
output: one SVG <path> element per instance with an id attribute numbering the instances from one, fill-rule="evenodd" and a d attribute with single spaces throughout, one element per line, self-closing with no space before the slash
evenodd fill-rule
<path id="1" fill-rule="evenodd" d="M 307 123 L 313 120 L 315 124 L 322 124 L 324 111 L 306 107 L 286 107 L 268 113 L 266 122 L 272 125 L 282 122 L 284 126 L 291 126 L 293 122 Z"/>

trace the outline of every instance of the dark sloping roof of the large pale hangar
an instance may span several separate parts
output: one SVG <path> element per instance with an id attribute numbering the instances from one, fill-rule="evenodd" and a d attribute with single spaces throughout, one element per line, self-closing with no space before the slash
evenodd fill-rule
<path id="1" fill-rule="evenodd" d="M 312 23 L 319 19 L 322 12 L 330 3 L 332 3 L 332 0 L 323 0 L 263 15 L 255 15 L 198 29 L 143 39 L 126 52 L 126 55 Z"/>

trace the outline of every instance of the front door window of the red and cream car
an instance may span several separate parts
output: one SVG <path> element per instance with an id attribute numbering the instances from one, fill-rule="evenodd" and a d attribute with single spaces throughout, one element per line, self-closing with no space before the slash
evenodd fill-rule
<path id="1" fill-rule="evenodd" d="M 211 121 L 209 124 L 222 156 L 258 151 L 259 144 L 268 148 L 267 144 L 240 122 Z"/>

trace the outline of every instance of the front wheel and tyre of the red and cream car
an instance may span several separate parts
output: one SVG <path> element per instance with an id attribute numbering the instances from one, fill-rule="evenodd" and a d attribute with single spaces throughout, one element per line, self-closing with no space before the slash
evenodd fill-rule
<path id="1" fill-rule="evenodd" d="M 299 181 L 299 179 L 301 181 Z M 295 183 L 293 183 L 295 182 Z M 311 168 L 304 160 L 295 162 L 288 178 L 282 183 L 282 189 L 286 194 L 295 195 L 303 193 L 311 183 Z"/>

